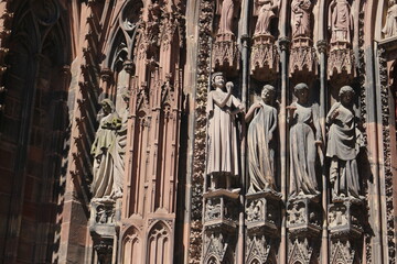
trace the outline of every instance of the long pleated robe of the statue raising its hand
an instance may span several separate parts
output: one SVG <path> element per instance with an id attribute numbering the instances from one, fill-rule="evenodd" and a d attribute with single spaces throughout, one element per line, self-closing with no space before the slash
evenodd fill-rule
<path id="1" fill-rule="evenodd" d="M 208 152 L 207 175 L 227 174 L 238 175 L 238 143 L 235 117 L 229 112 L 240 108 L 240 101 L 230 96 L 226 105 L 219 105 L 227 94 L 216 89 L 208 94 Z"/>

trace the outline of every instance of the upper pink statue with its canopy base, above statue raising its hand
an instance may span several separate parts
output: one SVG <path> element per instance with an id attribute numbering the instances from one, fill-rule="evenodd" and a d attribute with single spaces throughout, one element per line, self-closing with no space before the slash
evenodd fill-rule
<path id="1" fill-rule="evenodd" d="M 239 68 L 239 52 L 234 31 L 234 19 L 239 11 L 239 1 L 217 0 L 216 14 L 219 16 L 215 42 L 213 44 L 213 69 L 230 75 Z"/>

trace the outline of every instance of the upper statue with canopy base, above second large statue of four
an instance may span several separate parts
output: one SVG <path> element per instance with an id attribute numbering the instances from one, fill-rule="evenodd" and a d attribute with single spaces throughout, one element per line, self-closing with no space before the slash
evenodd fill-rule
<path id="1" fill-rule="evenodd" d="M 279 57 L 271 21 L 278 16 L 280 1 L 256 0 L 254 15 L 257 16 L 251 48 L 251 75 L 260 81 L 271 80 L 278 72 Z"/>

